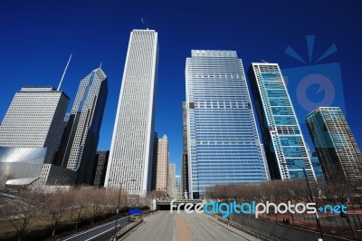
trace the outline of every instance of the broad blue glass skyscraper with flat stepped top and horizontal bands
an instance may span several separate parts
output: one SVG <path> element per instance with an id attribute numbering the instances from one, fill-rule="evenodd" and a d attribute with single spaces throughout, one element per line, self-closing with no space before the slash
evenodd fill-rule
<path id="1" fill-rule="evenodd" d="M 193 50 L 186 59 L 189 198 L 205 188 L 267 179 L 266 163 L 235 51 Z"/>

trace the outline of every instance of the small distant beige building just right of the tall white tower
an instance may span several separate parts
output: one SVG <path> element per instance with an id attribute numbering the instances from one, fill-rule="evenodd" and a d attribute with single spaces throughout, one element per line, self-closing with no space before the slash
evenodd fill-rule
<path id="1" fill-rule="evenodd" d="M 167 194 L 168 172 L 168 139 L 156 139 L 154 143 L 154 159 L 152 167 L 152 190 Z"/>

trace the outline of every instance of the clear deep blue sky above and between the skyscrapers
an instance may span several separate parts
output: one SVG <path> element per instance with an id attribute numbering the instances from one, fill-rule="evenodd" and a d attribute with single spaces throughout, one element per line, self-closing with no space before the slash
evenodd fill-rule
<path id="1" fill-rule="evenodd" d="M 332 3 L 335 2 L 335 3 Z M 102 62 L 109 96 L 99 149 L 110 149 L 119 89 L 132 29 L 155 29 L 159 37 L 156 130 L 169 139 L 170 158 L 182 153 L 185 63 L 191 49 L 236 50 L 247 70 L 264 60 L 281 69 L 308 67 L 306 35 L 315 35 L 313 64 L 330 45 L 338 51 L 320 64 L 339 63 L 348 123 L 362 147 L 362 4 L 360 1 L 0 1 L 0 120 L 25 85 L 78 84 Z M 147 25 L 142 24 L 141 18 Z M 285 53 L 291 46 L 307 63 Z M 302 72 L 303 70 L 301 70 Z M 329 69 L 325 70 L 328 74 Z M 308 68 L 307 68 L 308 72 Z M 337 73 L 338 74 L 338 73 Z M 289 81 L 291 79 L 289 78 Z M 336 96 L 341 87 L 336 83 Z M 315 98 L 325 92 L 310 87 Z M 293 96 L 292 96 L 293 97 Z M 314 97 L 311 97 L 313 99 Z M 300 113 L 303 115 L 304 113 Z M 304 124 L 302 124 L 304 125 Z M 305 129 L 304 129 L 305 130 Z M 310 142 L 309 133 L 305 132 Z"/>

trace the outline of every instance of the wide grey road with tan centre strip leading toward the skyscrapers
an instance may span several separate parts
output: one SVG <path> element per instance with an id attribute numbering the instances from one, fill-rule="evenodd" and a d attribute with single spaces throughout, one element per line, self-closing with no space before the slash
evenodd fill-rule
<path id="1" fill-rule="evenodd" d="M 242 231 L 228 227 L 205 214 L 170 214 L 158 211 L 145 217 L 145 222 L 134 229 L 122 240 L 172 240 L 172 241 L 212 241 L 212 240 L 260 240 Z"/>

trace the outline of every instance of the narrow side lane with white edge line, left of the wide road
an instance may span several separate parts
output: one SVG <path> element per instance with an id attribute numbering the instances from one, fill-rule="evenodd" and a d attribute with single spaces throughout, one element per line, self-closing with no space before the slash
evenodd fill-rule
<path id="1" fill-rule="evenodd" d="M 125 224 L 126 222 L 129 221 L 129 217 L 122 217 L 119 218 L 117 221 L 117 227 Z M 101 234 L 104 234 L 110 230 L 114 229 L 114 226 L 116 221 L 110 222 L 108 224 L 105 225 L 101 225 L 98 227 L 93 227 L 87 231 L 81 232 L 79 234 L 76 234 L 74 236 L 69 236 L 66 237 L 65 239 L 63 239 L 63 241 L 84 241 L 84 240 L 90 240 L 93 239 L 97 236 L 100 236 Z"/>

